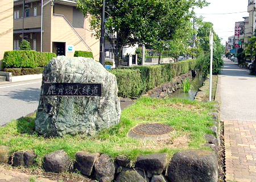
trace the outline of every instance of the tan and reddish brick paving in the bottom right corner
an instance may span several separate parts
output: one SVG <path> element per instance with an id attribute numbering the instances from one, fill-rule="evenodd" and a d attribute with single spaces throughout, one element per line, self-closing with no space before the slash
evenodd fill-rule
<path id="1" fill-rule="evenodd" d="M 256 181 L 256 122 L 224 121 L 226 181 Z"/>

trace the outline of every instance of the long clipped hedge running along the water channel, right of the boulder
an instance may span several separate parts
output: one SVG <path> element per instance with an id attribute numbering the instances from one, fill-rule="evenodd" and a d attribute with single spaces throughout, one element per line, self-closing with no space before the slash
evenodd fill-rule
<path id="1" fill-rule="evenodd" d="M 117 77 L 118 96 L 137 97 L 144 91 L 195 69 L 196 63 L 197 60 L 183 60 L 171 64 L 113 69 L 110 72 Z"/>

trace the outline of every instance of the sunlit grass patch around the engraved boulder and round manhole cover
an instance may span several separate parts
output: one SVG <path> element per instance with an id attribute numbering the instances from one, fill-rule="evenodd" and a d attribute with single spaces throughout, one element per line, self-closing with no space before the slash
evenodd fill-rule
<path id="1" fill-rule="evenodd" d="M 101 130 L 94 137 L 65 135 L 44 138 L 35 132 L 35 114 L 11 121 L 0 127 L 0 145 L 16 150 L 34 150 L 38 163 L 49 152 L 63 149 L 71 159 L 77 151 L 103 152 L 110 156 L 125 155 L 135 161 L 138 155 L 154 152 L 174 152 L 185 149 L 203 149 L 204 134 L 210 133 L 213 119 L 210 114 L 214 102 L 196 102 L 179 98 L 141 97 L 134 105 L 122 110 L 120 122 L 109 129 Z M 166 123 L 174 127 L 169 139 L 141 141 L 126 136 L 139 123 Z"/>

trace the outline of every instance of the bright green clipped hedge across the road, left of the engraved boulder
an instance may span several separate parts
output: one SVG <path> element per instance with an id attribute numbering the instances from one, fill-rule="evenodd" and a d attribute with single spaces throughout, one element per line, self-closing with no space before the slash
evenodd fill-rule
<path id="1" fill-rule="evenodd" d="M 6 51 L 3 56 L 3 68 L 45 67 L 52 57 L 56 57 L 56 54 L 36 51 Z"/>

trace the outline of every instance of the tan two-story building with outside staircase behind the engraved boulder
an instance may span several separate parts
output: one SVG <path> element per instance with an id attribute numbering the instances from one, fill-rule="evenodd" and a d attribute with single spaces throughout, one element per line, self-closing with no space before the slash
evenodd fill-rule
<path id="1" fill-rule="evenodd" d="M 92 51 L 98 60 L 100 41 L 76 5 L 75 0 L 14 0 L 14 50 L 24 37 L 35 51 L 68 57 L 75 51 Z"/>

